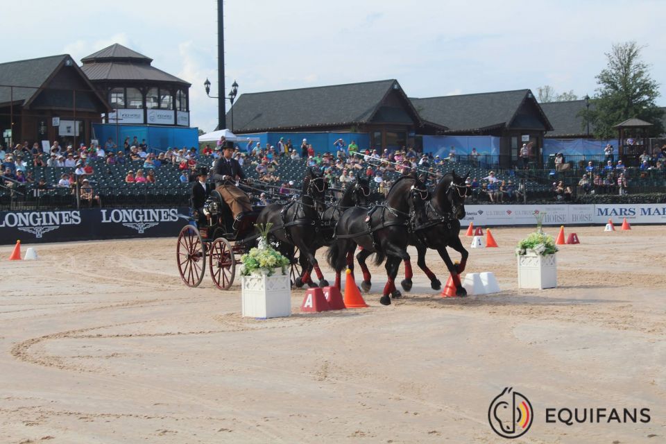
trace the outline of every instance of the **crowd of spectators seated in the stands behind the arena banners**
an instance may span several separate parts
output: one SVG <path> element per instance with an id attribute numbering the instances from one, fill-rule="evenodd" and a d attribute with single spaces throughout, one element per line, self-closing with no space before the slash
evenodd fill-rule
<path id="1" fill-rule="evenodd" d="M 221 156 L 224 142 L 224 139 L 221 139 L 214 146 L 206 145 L 200 151 L 194 147 L 167 148 L 160 151 L 149 150 L 146 141 L 139 142 L 137 137 L 132 140 L 127 137 L 121 148 L 109 138 L 103 144 L 80 144 L 78 147 L 60 146 L 58 142 L 53 142 L 48 153 L 44 153 L 37 143 L 30 145 L 24 142 L 7 152 L 0 147 L 3 185 L 32 185 L 35 190 L 42 192 L 51 187 L 83 189 L 85 182 L 85 200 L 99 203 L 99 196 L 90 189 L 91 182 L 95 183 L 96 169 L 104 168 L 108 171 L 114 166 L 132 167 L 124 178 L 127 186 L 154 184 L 155 171 L 165 167 L 180 172 L 180 175 L 174 173 L 171 176 L 174 182 L 194 182 L 196 169 L 201 165 L 211 167 Z M 300 145 L 295 146 L 291 139 L 280 137 L 275 146 L 262 145 L 260 142 L 248 142 L 242 148 L 237 146 L 234 158 L 246 171 L 256 173 L 259 183 L 273 185 L 280 192 L 284 191 L 284 194 L 293 192 L 295 184 L 293 176 L 280 177 L 280 165 L 283 162 L 300 162 L 304 166 L 321 169 L 329 187 L 334 189 L 343 189 L 358 177 L 364 177 L 382 194 L 388 192 L 396 177 L 411 171 L 418 171 L 423 181 L 432 183 L 441 177 L 443 169 L 456 167 L 461 161 L 466 163 L 465 168 L 477 167 L 479 164 L 476 148 L 466 156 L 456 154 L 454 147 L 448 150 L 447 155 L 432 155 L 418 153 L 409 146 L 402 146 L 397 150 L 361 148 L 355 141 L 346 144 L 343 139 L 337 139 L 328 147 L 328 151 L 321 152 L 322 147 L 317 148 L 319 149 L 315 150 L 307 139 L 302 139 Z M 520 150 L 520 159 L 529 157 L 524 148 Z M 523 163 L 523 167 L 526 167 L 527 161 Z M 665 171 L 666 145 L 654 154 L 643 151 L 638 156 L 638 164 L 640 166 L 633 167 L 632 171 L 641 176 L 649 171 Z M 566 171 L 571 165 L 565 162 L 563 153 L 557 153 L 556 174 Z M 31 167 L 52 167 L 62 169 L 63 172 L 58 175 L 60 180 L 56 183 L 47 184 L 42 178 L 35 184 Z M 604 148 L 603 164 L 589 161 L 584 170 L 582 177 L 574 176 L 580 177 L 576 179 L 579 180 L 577 184 L 573 182 L 567 185 L 562 180 L 553 182 L 554 198 L 572 200 L 574 189 L 582 194 L 626 194 L 629 189 L 626 166 L 622 160 L 615 161 L 613 146 Z M 490 171 L 486 177 L 468 178 L 468 185 L 476 200 L 488 200 L 491 203 L 520 201 L 526 192 L 524 181 L 517 180 L 513 175 L 498 178 L 494 171 Z"/>

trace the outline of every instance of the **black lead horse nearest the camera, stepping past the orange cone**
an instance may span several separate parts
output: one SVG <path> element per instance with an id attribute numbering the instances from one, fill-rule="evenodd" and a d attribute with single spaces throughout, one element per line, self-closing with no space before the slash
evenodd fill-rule
<path id="1" fill-rule="evenodd" d="M 340 273 L 345 265 L 353 270 L 353 254 L 358 245 L 362 248 L 357 258 L 362 257 L 359 264 L 364 280 L 366 273 L 369 276 L 365 259 L 375 253 L 375 264 L 379 265 L 386 258 L 384 267 L 388 280 L 379 302 L 389 305 L 390 296 L 401 296 L 400 291 L 395 289 L 395 275 L 400 262 L 409 261 L 407 231 L 413 212 L 413 200 L 425 198 L 426 194 L 425 185 L 415 175 L 403 176 L 395 181 L 383 204 L 370 209 L 352 207 L 342 214 L 335 229 L 336 240 L 327 253 L 328 263 L 336 272 L 336 287 L 340 287 Z"/>

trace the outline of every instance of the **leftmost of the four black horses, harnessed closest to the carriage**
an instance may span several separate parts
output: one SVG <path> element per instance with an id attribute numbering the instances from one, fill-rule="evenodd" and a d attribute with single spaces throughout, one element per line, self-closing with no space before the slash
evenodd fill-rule
<path id="1" fill-rule="evenodd" d="M 317 248 L 321 248 L 324 244 L 319 214 L 325 210 L 326 189 L 327 183 L 321 172 L 307 169 L 300 199 L 291 200 L 284 205 L 279 203 L 267 205 L 257 218 L 257 224 L 273 223 L 271 239 L 278 240 L 280 243 L 278 249 L 281 253 L 286 253 L 290 259 L 293 259 L 294 247 L 300 250 L 302 274 L 294 282 L 297 287 L 306 283 L 316 287 L 310 278 L 313 268 L 319 280 L 319 287 L 328 285 L 315 257 Z"/>

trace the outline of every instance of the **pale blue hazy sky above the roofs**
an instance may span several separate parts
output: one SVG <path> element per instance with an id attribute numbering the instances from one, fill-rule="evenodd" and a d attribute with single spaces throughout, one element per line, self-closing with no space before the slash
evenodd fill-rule
<path id="1" fill-rule="evenodd" d="M 216 0 L 3 3 L 0 62 L 80 63 L 123 44 L 192 84 L 191 126 L 216 126 L 203 87 L 210 78 L 218 95 Z M 224 13 L 225 95 L 234 80 L 240 95 L 395 78 L 410 97 L 544 85 L 593 96 L 604 53 L 633 40 L 666 105 L 663 0 L 228 0 Z"/>

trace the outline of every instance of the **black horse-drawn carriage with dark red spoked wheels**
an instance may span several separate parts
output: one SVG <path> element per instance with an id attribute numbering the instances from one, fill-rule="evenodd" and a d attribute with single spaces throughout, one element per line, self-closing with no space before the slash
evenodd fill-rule
<path id="1" fill-rule="evenodd" d="M 242 218 L 232 221 L 232 212 L 218 191 L 213 190 L 204 205 L 203 215 L 195 215 L 178 234 L 176 257 L 178 273 L 188 287 L 198 287 L 206 266 L 215 286 L 230 289 L 241 255 L 255 245 L 255 222 L 263 207 L 253 207 Z M 284 252 L 291 262 L 291 282 L 301 273 L 298 249 Z"/>

